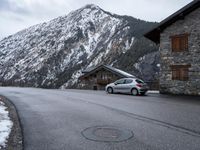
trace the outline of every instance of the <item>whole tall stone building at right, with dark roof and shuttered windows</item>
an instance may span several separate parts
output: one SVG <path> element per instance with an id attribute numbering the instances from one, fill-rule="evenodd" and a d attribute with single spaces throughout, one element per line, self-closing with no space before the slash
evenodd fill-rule
<path id="1" fill-rule="evenodd" d="M 145 34 L 160 44 L 160 93 L 200 95 L 200 0 Z"/>

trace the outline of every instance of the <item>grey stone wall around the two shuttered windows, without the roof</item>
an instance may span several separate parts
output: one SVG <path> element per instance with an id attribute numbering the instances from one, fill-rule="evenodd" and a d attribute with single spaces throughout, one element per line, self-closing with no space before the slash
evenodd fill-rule
<path id="1" fill-rule="evenodd" d="M 172 52 L 170 36 L 188 33 L 188 51 Z M 160 93 L 200 95 L 200 8 L 160 34 Z M 171 65 L 187 65 L 189 80 L 172 80 Z"/>

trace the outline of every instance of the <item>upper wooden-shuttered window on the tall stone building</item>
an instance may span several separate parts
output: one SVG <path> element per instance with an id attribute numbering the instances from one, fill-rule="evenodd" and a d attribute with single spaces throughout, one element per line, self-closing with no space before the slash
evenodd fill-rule
<path id="1" fill-rule="evenodd" d="M 188 50 L 189 34 L 171 36 L 172 52 L 183 52 Z"/>

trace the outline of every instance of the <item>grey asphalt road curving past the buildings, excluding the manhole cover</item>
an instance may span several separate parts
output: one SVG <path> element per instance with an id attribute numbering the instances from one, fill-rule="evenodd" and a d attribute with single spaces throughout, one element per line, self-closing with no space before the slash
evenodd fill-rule
<path id="1" fill-rule="evenodd" d="M 0 94 L 17 107 L 25 150 L 200 150 L 200 97 L 12 87 L 0 87 Z M 133 137 L 103 142 L 83 136 L 96 126 Z M 115 137 L 104 132 L 98 134 Z"/>

